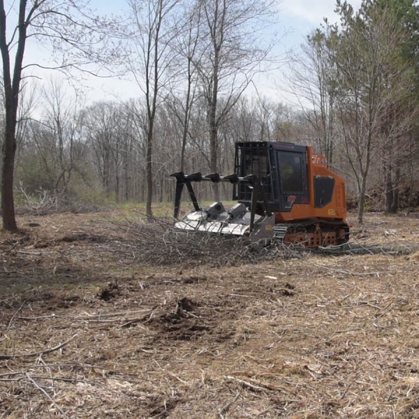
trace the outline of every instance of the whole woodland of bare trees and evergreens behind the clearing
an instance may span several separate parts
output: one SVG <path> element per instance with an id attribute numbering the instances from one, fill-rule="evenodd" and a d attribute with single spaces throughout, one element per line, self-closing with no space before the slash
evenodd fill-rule
<path id="1" fill-rule="evenodd" d="M 337 1 L 299 50 L 276 54 L 272 0 L 128 0 L 124 16 L 82 0 L 0 0 L 1 210 L 173 199 L 170 174 L 234 170 L 235 141 L 314 146 L 346 179 L 358 221 L 419 205 L 419 7 Z M 35 45 L 60 78 L 39 79 Z M 258 89 L 281 71 L 288 100 Z M 80 78 L 130 75 L 133 98 L 91 103 Z M 70 82 L 64 83 L 62 75 Z M 287 88 L 285 87 L 287 86 Z M 69 87 L 71 86 L 71 87 Z M 133 88 L 134 90 L 134 88 Z M 249 94 L 251 91 L 251 94 Z M 198 198 L 229 199 L 223 186 Z"/>

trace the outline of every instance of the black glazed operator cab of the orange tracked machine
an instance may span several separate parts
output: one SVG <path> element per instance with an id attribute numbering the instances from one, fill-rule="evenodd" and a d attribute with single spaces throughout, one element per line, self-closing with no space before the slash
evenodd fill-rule
<path id="1" fill-rule="evenodd" d="M 256 212 L 290 212 L 293 204 L 309 203 L 307 147 L 290 142 L 237 142 L 235 173 L 239 177 L 256 175 L 263 185 L 268 208 L 258 202 Z M 235 185 L 233 200 L 250 206 L 249 184 Z"/>

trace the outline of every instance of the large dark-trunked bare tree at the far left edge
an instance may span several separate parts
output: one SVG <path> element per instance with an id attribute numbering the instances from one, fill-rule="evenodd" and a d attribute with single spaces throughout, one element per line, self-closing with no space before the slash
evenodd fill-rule
<path id="1" fill-rule="evenodd" d="M 13 16 L 15 10 L 16 15 Z M 103 46 L 101 41 L 105 38 L 104 24 L 104 20 L 88 10 L 87 3 L 82 0 L 19 0 L 10 1 L 9 4 L 0 0 L 0 52 L 6 114 L 1 168 L 4 230 L 17 230 L 13 172 L 17 147 L 17 109 L 23 71 L 29 66 L 41 66 L 39 63 L 24 66 L 27 41 L 29 38 L 35 38 L 43 45 L 50 44 L 56 57 L 61 57 L 54 68 L 82 68 L 98 59 L 103 61 L 104 50 L 102 48 L 98 51 L 97 47 Z"/>

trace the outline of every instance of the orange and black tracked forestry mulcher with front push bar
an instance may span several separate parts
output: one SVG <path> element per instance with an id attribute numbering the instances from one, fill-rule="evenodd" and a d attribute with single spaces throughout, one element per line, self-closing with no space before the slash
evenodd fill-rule
<path id="1" fill-rule="evenodd" d="M 237 142 L 235 172 L 203 176 L 177 172 L 175 229 L 247 237 L 250 242 L 280 241 L 307 248 L 348 242 L 344 179 L 326 167 L 312 147 L 288 142 Z M 194 182 L 230 182 L 233 200 L 201 208 Z M 179 220 L 182 190 L 186 185 L 194 211 Z"/>

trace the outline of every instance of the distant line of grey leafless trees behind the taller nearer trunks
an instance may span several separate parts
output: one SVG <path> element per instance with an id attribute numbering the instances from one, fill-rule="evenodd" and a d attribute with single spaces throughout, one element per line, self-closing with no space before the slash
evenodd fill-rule
<path id="1" fill-rule="evenodd" d="M 124 202 L 147 199 L 147 104 L 145 101 L 103 101 L 81 105 L 62 85 L 43 92 L 44 109 L 37 119 L 22 122 L 18 131 L 16 181 L 30 195 L 54 191 L 63 196 L 101 196 Z M 210 173 L 210 138 L 205 101 L 197 101 L 189 115 L 188 137 L 182 147 L 184 125 L 178 109 L 163 103 L 154 119 L 152 201 L 174 198 L 170 174 L 179 170 Z M 219 129 L 217 172 L 234 171 L 235 141 L 289 140 L 294 126 L 291 108 L 267 98 L 243 96 Z M 300 123 L 298 123 L 300 124 Z M 285 131 L 284 129 L 285 128 Z M 308 135 L 307 135 L 308 136 Z M 183 159 L 183 164 L 181 163 Z M 222 187 L 222 186 L 221 186 Z M 231 191 L 220 191 L 223 199 Z M 200 196 L 212 197 L 204 190 Z"/>

